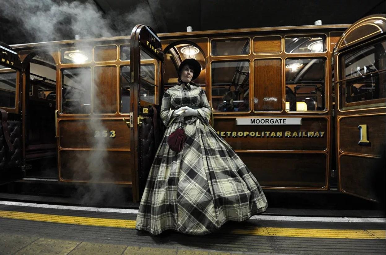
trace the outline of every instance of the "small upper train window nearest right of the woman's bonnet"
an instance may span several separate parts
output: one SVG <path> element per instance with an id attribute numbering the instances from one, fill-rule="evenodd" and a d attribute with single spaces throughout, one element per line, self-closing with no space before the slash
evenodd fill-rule
<path id="1" fill-rule="evenodd" d="M 212 56 L 249 55 L 250 44 L 249 38 L 214 39 L 210 41 L 210 53 Z"/>

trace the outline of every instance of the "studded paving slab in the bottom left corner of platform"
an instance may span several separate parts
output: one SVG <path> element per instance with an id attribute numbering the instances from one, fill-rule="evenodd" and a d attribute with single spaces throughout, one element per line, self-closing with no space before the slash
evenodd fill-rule
<path id="1" fill-rule="evenodd" d="M 15 254 L 17 251 L 34 242 L 36 239 L 37 237 L 0 234 L 0 254 Z"/>

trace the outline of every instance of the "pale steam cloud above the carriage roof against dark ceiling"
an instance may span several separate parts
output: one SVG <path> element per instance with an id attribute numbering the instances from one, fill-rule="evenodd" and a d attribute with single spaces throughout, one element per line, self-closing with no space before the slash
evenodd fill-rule
<path id="1" fill-rule="evenodd" d="M 158 0 L 150 2 L 158 3 Z M 122 4 L 125 4 L 122 2 Z M 22 26 L 29 42 L 130 35 L 134 25 L 154 26 L 149 5 L 139 3 L 130 12 L 102 13 L 91 0 L 0 0 L 3 17 Z M 14 28 L 15 29 L 15 28 Z"/>

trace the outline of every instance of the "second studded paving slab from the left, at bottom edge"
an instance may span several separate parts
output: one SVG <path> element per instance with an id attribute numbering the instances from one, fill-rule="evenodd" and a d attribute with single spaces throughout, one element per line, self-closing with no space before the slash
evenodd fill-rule
<path id="1" fill-rule="evenodd" d="M 80 242 L 68 240 L 39 238 L 39 240 L 27 245 L 15 255 L 66 255 L 79 244 Z"/>

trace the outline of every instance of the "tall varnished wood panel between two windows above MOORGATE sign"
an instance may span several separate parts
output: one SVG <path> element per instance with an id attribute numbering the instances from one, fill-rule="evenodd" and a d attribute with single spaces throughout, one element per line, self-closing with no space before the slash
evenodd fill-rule
<path id="1" fill-rule="evenodd" d="M 281 111 L 281 59 L 254 60 L 254 110 Z"/>

